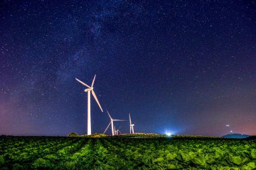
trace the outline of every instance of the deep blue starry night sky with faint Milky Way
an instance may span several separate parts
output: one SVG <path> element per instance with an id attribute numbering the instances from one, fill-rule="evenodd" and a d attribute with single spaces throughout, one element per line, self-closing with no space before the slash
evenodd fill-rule
<path id="1" fill-rule="evenodd" d="M 256 2 L 0 2 L 0 135 L 86 134 L 94 74 L 92 133 L 255 135 Z"/>

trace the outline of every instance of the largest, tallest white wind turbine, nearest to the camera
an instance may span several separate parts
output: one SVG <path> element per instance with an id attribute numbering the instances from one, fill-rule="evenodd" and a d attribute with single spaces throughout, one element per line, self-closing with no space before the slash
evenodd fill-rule
<path id="1" fill-rule="evenodd" d="M 94 84 L 94 81 L 95 81 L 95 77 L 96 77 L 96 74 L 94 75 L 91 87 L 76 78 L 77 82 L 79 82 L 79 83 L 83 84 L 85 87 L 87 87 L 84 90 L 84 92 L 87 92 L 87 135 L 92 134 L 92 126 L 91 126 L 91 120 L 90 120 L 90 92 L 92 92 L 92 95 L 93 95 L 95 101 L 98 103 L 100 110 L 103 112 L 102 107 L 99 104 L 98 98 L 96 97 L 96 95 L 93 91 L 93 84 Z"/>

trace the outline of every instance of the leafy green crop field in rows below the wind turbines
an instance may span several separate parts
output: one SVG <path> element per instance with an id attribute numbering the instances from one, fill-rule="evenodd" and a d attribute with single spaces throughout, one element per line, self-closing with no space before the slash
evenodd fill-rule
<path id="1" fill-rule="evenodd" d="M 0 137 L 0 169 L 256 169 L 256 140 Z"/>

